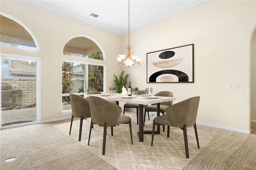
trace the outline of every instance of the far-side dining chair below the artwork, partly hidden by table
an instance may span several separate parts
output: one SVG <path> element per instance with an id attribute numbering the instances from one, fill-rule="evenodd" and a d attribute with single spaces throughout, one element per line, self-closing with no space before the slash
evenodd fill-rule
<path id="1" fill-rule="evenodd" d="M 172 97 L 172 92 L 170 92 L 170 91 L 160 91 L 160 92 L 156 93 L 154 96 Z M 164 115 L 165 109 L 170 105 L 172 105 L 172 101 L 166 101 L 166 102 L 160 103 L 160 113 L 162 113 Z M 157 105 L 156 104 L 152 104 L 150 106 L 145 107 L 144 125 L 145 125 L 146 112 L 156 112 L 156 111 L 157 111 Z M 148 113 L 148 115 L 149 115 L 149 113 Z M 163 131 L 164 131 L 164 125 L 163 125 Z"/>

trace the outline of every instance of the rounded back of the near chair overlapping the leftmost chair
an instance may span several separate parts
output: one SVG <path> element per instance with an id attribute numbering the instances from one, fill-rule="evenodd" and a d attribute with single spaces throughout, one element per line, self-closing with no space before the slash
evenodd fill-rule
<path id="1" fill-rule="evenodd" d="M 114 126 L 121 115 L 122 108 L 101 97 L 89 97 L 92 122 L 104 126 Z"/>

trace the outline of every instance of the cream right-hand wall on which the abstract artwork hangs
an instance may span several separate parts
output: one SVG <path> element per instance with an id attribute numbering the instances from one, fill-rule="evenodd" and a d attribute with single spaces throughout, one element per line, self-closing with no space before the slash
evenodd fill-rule
<path id="1" fill-rule="evenodd" d="M 249 132 L 250 40 L 256 1 L 213 1 L 130 33 L 140 67 L 124 68 L 132 87 L 200 96 L 197 122 Z M 123 45 L 127 42 L 123 40 Z M 146 53 L 194 43 L 194 83 L 146 83 Z M 227 84 L 232 84 L 232 89 Z"/>

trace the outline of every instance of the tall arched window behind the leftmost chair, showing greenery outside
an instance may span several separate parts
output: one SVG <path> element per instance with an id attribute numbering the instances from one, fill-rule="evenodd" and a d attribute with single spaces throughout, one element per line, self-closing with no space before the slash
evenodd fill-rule
<path id="1" fill-rule="evenodd" d="M 62 54 L 89 59 L 104 60 L 103 50 L 100 45 L 90 38 L 79 36 L 69 40 Z M 84 96 L 88 90 L 104 91 L 104 65 L 92 62 L 62 61 L 62 112 L 71 109 L 69 94 L 76 93 Z"/>

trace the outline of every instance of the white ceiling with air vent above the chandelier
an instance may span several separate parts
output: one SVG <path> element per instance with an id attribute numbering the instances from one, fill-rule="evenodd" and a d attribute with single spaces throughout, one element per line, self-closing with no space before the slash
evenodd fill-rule
<path id="1" fill-rule="evenodd" d="M 130 0 L 130 32 L 212 0 Z M 22 0 L 27 4 L 124 35 L 128 0 Z M 91 16 L 96 14 L 98 17 Z"/>

